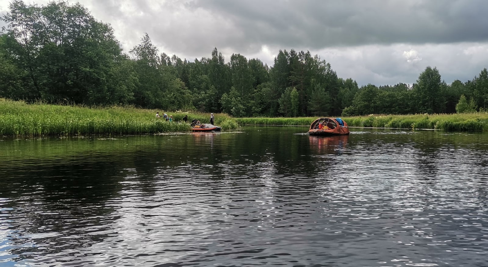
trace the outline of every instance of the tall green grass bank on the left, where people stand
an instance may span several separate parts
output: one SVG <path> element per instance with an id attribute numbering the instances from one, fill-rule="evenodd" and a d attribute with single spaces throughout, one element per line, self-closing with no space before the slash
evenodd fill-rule
<path id="1" fill-rule="evenodd" d="M 155 114 L 173 115 L 173 122 L 156 119 Z M 92 135 L 155 134 L 189 132 L 188 122 L 208 123 L 210 114 L 165 112 L 130 107 L 82 107 L 50 104 L 26 104 L 0 99 L 0 135 Z M 215 114 L 215 124 L 224 130 L 236 129 L 237 123 L 226 114 Z"/>

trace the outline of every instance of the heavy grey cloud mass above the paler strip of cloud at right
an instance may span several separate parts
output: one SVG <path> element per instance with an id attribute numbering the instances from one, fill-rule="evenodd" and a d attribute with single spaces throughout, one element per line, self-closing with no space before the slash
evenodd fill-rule
<path id="1" fill-rule="evenodd" d="M 485 0 L 81 0 L 122 44 L 144 32 L 161 50 L 279 49 L 488 40 Z M 130 41 L 129 41 L 130 40 Z M 125 42 L 125 43 L 124 43 Z M 127 48 L 127 47 L 126 47 Z"/>

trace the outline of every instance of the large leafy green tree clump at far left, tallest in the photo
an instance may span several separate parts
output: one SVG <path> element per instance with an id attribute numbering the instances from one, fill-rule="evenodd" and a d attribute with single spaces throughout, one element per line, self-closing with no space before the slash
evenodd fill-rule
<path id="1" fill-rule="evenodd" d="M 2 17 L 9 39 L 4 49 L 26 73 L 24 98 L 111 104 L 105 96 L 94 96 L 112 86 L 111 70 L 122 57 L 109 24 L 97 21 L 80 3 L 60 0 L 38 6 L 14 0 L 9 8 Z"/>

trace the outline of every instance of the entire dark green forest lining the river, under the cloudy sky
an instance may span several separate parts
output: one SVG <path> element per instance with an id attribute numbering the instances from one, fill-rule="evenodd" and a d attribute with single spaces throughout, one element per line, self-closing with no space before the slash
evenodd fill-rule
<path id="1" fill-rule="evenodd" d="M 280 50 L 273 66 L 241 54 L 226 59 L 217 48 L 210 57 L 182 60 L 144 34 L 126 54 L 111 25 L 80 3 L 13 0 L 1 20 L 0 98 L 235 117 L 487 111 L 486 68 L 447 84 L 427 66 L 412 85 L 359 87 L 309 51 Z"/>

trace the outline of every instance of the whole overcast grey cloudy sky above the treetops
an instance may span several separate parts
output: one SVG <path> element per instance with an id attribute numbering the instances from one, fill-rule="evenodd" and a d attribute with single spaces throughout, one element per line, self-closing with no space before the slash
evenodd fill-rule
<path id="1" fill-rule="evenodd" d="M 0 13 L 9 2 L 0 0 Z M 488 68 L 487 0 L 79 2 L 112 25 L 125 51 L 144 32 L 161 53 L 189 60 L 217 47 L 226 59 L 240 53 L 272 66 L 280 49 L 309 50 L 359 85 L 411 84 L 427 66 L 465 82 Z"/>

